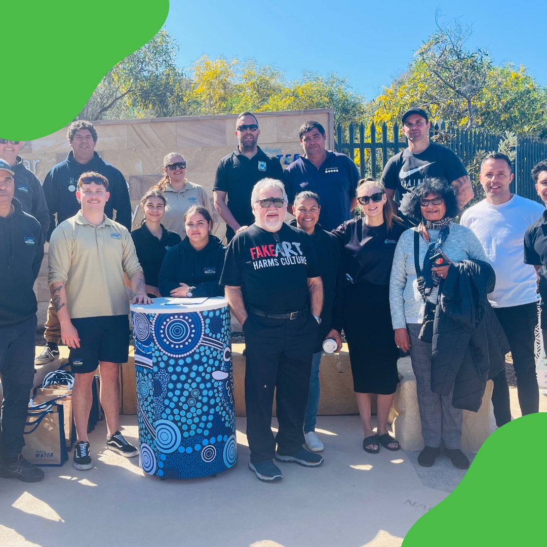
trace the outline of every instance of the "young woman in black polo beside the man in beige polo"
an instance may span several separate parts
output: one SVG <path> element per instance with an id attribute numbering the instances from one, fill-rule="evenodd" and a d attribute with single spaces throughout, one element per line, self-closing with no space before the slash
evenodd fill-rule
<path id="1" fill-rule="evenodd" d="M 158 190 L 148 190 L 141 199 L 144 220 L 141 228 L 131 232 L 137 258 L 141 263 L 148 296 L 161 296 L 158 275 L 165 254 L 181 242 L 177 232 L 167 230 L 162 224 L 167 207 L 165 196 Z"/>

